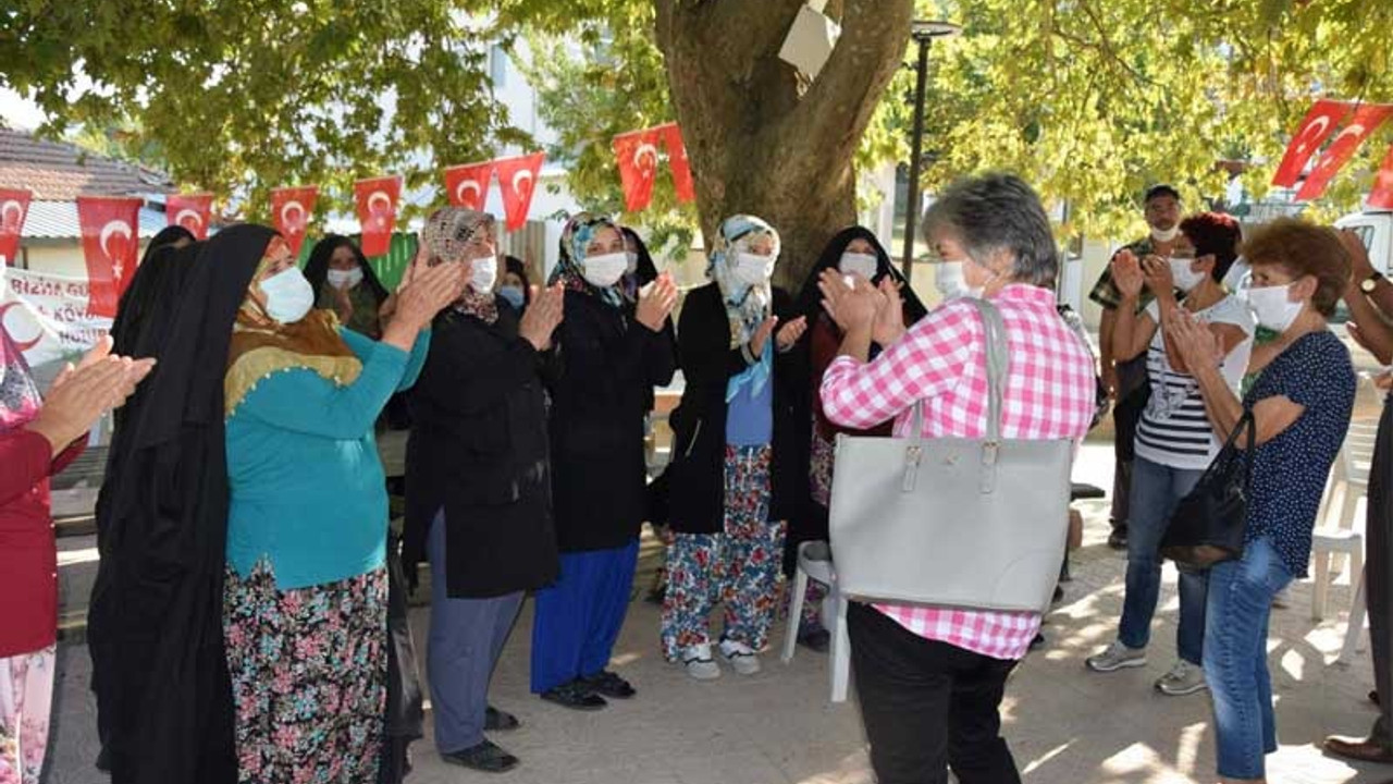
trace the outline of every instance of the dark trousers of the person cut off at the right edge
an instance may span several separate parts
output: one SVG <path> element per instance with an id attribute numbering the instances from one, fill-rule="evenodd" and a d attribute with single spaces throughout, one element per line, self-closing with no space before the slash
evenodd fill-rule
<path id="1" fill-rule="evenodd" d="M 1383 403 L 1379 435 L 1373 442 L 1365 523 L 1369 538 L 1365 544 L 1364 587 L 1369 607 L 1373 684 L 1380 706 L 1371 735 L 1393 751 L 1393 396 Z"/>

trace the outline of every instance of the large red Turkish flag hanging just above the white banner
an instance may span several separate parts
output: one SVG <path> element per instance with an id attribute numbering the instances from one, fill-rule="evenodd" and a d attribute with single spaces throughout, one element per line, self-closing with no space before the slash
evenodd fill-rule
<path id="1" fill-rule="evenodd" d="M 114 317 L 121 293 L 135 278 L 142 204 L 131 197 L 78 197 L 92 315 Z"/>

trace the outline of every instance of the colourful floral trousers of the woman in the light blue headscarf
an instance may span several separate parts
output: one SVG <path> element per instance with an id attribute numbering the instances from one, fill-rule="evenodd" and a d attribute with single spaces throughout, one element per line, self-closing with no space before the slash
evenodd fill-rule
<path id="1" fill-rule="evenodd" d="M 724 533 L 678 533 L 667 548 L 663 656 L 710 643 L 712 607 L 724 604 L 723 639 L 754 650 L 769 642 L 779 607 L 784 523 L 769 518 L 769 446 L 726 446 Z"/>

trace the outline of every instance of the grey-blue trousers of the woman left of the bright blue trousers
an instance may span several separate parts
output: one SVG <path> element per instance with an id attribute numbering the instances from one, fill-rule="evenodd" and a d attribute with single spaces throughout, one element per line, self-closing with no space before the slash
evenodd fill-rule
<path id="1" fill-rule="evenodd" d="M 446 593 L 444 512 L 426 538 L 430 558 L 430 636 L 426 668 L 436 749 L 461 752 L 483 742 L 489 679 L 522 605 L 522 591 L 493 598 L 450 598 Z"/>

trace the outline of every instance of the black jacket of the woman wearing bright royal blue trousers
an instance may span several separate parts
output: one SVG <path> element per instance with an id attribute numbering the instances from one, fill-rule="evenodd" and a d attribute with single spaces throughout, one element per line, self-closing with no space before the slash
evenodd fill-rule
<path id="1" fill-rule="evenodd" d="M 566 365 L 550 385 L 557 541 L 564 552 L 624 547 L 646 518 L 644 417 L 653 386 L 673 379 L 673 346 L 632 307 L 581 292 L 566 293 L 556 342 Z"/>

